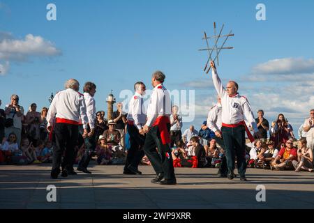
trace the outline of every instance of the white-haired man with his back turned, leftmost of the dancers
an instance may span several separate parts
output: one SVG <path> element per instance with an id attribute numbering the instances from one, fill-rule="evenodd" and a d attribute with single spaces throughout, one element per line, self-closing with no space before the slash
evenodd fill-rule
<path id="1" fill-rule="evenodd" d="M 84 125 L 83 137 L 87 137 L 87 114 L 84 97 L 78 91 L 80 84 L 76 79 L 66 82 L 66 89 L 59 91 L 52 100 L 47 114 L 47 130 L 54 133 L 54 153 L 51 178 L 56 179 L 60 173 L 60 164 L 63 151 L 62 174 L 68 176 L 75 156 L 74 148 L 79 136 L 80 120 Z M 52 128 L 53 127 L 53 128 Z"/>

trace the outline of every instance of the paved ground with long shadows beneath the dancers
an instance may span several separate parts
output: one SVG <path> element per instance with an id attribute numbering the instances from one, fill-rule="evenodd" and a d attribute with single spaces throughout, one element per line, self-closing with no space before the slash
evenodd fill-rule
<path id="1" fill-rule="evenodd" d="M 217 178 L 217 169 L 177 168 L 178 185 L 150 183 L 122 175 L 121 166 L 92 166 L 92 175 L 50 179 L 49 165 L 0 166 L 0 208 L 314 208 L 314 174 L 248 169 L 248 183 Z M 47 185 L 57 187 L 57 202 L 47 202 Z M 257 202 L 256 186 L 266 187 Z"/>

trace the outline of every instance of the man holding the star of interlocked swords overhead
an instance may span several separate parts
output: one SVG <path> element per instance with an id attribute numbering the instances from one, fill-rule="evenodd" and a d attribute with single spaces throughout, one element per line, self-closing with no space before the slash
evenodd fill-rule
<path id="1" fill-rule="evenodd" d="M 215 89 L 221 98 L 222 105 L 222 127 L 223 141 L 225 142 L 225 150 L 227 157 L 228 174 L 227 177 L 232 180 L 234 178 L 235 156 L 237 155 L 237 167 L 241 181 L 246 179 L 246 157 L 245 132 L 251 141 L 254 137 L 246 127 L 244 118 L 250 123 L 256 137 L 260 138 L 260 132 L 257 129 L 255 118 L 251 110 L 248 100 L 238 93 L 239 86 L 237 82 L 230 81 L 227 83 L 227 89 L 223 88 L 220 78 L 218 77 L 214 61 L 211 61 L 213 82 Z"/>

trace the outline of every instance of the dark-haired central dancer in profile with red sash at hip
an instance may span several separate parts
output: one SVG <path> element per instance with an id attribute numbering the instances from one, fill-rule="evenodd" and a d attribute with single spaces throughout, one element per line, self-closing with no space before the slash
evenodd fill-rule
<path id="1" fill-rule="evenodd" d="M 174 185 L 177 184 L 177 180 L 174 175 L 169 146 L 171 100 L 169 92 L 163 86 L 164 80 L 165 75 L 163 72 L 154 72 L 151 79 L 154 90 L 147 109 L 147 123 L 143 128 L 143 132 L 147 133 L 144 152 L 157 174 L 156 178 L 151 180 L 151 183 L 160 182 L 163 185 Z M 156 151 L 156 147 L 158 148 L 158 152 Z M 165 179 L 162 180 L 163 178 Z"/>

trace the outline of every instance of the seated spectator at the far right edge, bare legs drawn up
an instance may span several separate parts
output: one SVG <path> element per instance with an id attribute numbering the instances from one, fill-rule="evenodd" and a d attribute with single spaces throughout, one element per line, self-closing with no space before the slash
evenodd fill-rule
<path id="1" fill-rule="evenodd" d="M 306 139 L 299 140 L 298 160 L 292 161 L 296 172 L 299 172 L 301 169 L 313 172 L 313 151 L 306 144 Z"/>

